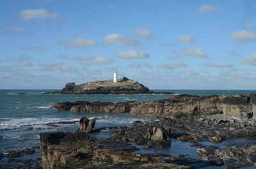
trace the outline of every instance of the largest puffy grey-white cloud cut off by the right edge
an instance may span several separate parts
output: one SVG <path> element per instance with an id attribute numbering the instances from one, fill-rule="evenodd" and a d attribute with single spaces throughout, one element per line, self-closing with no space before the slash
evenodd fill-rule
<path id="1" fill-rule="evenodd" d="M 241 43 L 256 42 L 256 33 L 246 30 L 234 31 L 231 33 L 231 36 L 234 40 Z"/>

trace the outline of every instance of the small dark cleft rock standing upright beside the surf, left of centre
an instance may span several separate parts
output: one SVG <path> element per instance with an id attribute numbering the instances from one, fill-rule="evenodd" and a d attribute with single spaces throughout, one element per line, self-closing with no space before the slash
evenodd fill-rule
<path id="1" fill-rule="evenodd" d="M 86 117 L 82 117 L 79 121 L 79 131 L 83 131 L 85 133 L 92 133 L 93 131 L 96 131 L 94 128 L 95 126 L 95 120 L 94 119 L 87 119 Z"/>

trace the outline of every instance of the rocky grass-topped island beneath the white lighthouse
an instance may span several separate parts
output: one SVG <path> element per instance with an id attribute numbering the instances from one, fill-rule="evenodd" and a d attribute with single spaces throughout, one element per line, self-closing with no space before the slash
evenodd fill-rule
<path id="1" fill-rule="evenodd" d="M 109 80 L 97 80 L 76 85 L 68 83 L 61 91 L 45 92 L 46 94 L 172 94 L 170 92 L 153 92 L 143 84 L 126 77 L 114 82 Z"/>

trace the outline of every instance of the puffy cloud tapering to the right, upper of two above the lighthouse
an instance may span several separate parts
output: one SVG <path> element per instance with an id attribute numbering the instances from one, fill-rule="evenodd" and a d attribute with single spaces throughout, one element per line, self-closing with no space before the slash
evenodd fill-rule
<path id="1" fill-rule="evenodd" d="M 122 34 L 108 34 L 103 39 L 103 43 L 108 45 L 127 45 L 127 46 L 138 46 L 142 43 L 131 36 L 124 36 Z"/>

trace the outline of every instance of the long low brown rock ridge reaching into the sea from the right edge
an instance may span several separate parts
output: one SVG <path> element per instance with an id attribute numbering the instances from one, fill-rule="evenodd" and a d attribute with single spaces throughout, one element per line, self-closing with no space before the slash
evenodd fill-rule
<path id="1" fill-rule="evenodd" d="M 256 116 L 256 94 L 236 96 L 190 96 L 186 94 L 149 102 L 94 102 L 76 101 L 56 103 L 51 108 L 84 113 L 125 113 L 154 117 L 182 117 L 191 115 L 223 114 L 234 119 Z"/>

